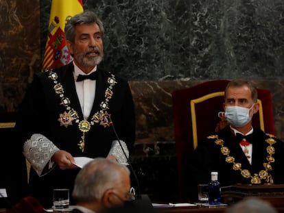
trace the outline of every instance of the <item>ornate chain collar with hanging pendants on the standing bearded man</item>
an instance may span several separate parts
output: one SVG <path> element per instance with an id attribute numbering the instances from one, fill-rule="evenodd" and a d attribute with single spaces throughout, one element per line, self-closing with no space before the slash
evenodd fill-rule
<path id="1" fill-rule="evenodd" d="M 80 147 L 81 151 L 84 152 L 84 146 L 85 146 L 85 132 L 89 131 L 91 129 L 92 125 L 95 125 L 95 123 L 99 123 L 99 125 L 102 125 L 103 127 L 109 127 L 108 122 L 108 102 L 113 97 L 113 86 L 117 84 L 115 81 L 115 75 L 111 74 L 110 77 L 108 77 L 108 88 L 106 88 L 106 91 L 104 93 L 104 97 L 106 98 L 102 103 L 100 104 L 100 110 L 98 112 L 95 112 L 93 114 L 93 117 L 91 118 L 91 122 L 88 122 L 86 120 L 80 121 L 78 113 L 76 110 L 70 107 L 70 99 L 68 97 L 65 97 L 64 95 L 64 88 L 63 86 L 57 81 L 58 75 L 57 73 L 54 73 L 54 71 L 51 69 L 49 70 L 49 78 L 54 81 L 54 91 L 56 94 L 59 95 L 61 99 L 61 105 L 64 105 L 65 111 L 63 114 L 59 114 L 58 121 L 60 122 L 60 125 L 64 127 L 68 127 L 69 125 L 72 125 L 72 122 L 75 120 L 75 123 L 78 123 L 78 127 L 80 131 L 82 131 L 83 135 L 81 137 L 80 142 L 78 143 L 78 146 Z"/>

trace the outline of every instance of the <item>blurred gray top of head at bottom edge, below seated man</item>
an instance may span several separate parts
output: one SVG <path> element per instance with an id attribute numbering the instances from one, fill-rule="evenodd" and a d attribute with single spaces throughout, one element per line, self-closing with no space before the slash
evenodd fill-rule
<path id="1" fill-rule="evenodd" d="M 277 213 L 277 211 L 268 201 L 248 197 L 230 206 L 225 213 Z"/>

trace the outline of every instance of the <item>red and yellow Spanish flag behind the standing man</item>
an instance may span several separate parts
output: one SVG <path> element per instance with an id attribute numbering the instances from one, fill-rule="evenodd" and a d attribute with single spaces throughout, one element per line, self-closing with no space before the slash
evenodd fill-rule
<path id="1" fill-rule="evenodd" d="M 58 68 L 72 60 L 64 36 L 65 23 L 83 12 L 82 0 L 52 0 L 43 68 Z"/>

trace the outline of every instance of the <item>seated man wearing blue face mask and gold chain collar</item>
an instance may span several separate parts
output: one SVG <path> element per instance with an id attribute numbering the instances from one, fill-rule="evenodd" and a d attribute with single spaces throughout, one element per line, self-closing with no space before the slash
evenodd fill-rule
<path id="1" fill-rule="evenodd" d="M 222 186 L 233 184 L 284 184 L 284 144 L 275 136 L 252 127 L 252 116 L 259 110 L 257 88 L 244 80 L 226 86 L 224 111 L 228 125 L 198 142 L 191 155 L 189 194 L 197 195 L 198 184 L 218 171 Z"/>

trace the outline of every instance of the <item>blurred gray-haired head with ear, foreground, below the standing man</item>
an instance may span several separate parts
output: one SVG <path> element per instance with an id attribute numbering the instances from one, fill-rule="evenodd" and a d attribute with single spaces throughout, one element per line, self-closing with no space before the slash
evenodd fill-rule
<path id="1" fill-rule="evenodd" d="M 95 158 L 78 173 L 72 196 L 77 205 L 101 212 L 123 205 L 129 192 L 128 168 L 107 158 Z"/>

